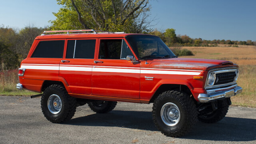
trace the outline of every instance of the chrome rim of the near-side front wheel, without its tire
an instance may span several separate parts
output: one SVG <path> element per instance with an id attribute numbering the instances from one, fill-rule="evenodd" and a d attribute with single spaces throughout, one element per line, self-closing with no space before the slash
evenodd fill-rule
<path id="1" fill-rule="evenodd" d="M 162 106 L 161 118 L 167 126 L 175 126 L 180 121 L 180 110 L 174 103 L 168 102 Z"/>

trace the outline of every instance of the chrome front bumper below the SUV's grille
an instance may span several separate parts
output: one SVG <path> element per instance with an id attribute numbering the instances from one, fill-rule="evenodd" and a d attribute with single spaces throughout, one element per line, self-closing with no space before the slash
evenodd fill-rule
<path id="1" fill-rule="evenodd" d="M 230 98 L 231 96 L 235 96 L 243 91 L 243 88 L 237 86 L 232 88 L 231 90 L 226 90 L 222 92 L 216 92 L 213 94 L 199 94 L 198 100 L 199 102 L 212 102 L 214 100 L 220 100 L 223 98 Z"/>

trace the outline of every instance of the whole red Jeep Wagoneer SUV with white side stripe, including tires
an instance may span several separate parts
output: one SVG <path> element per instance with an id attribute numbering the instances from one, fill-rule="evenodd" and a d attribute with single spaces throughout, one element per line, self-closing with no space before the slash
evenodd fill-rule
<path id="1" fill-rule="evenodd" d="M 84 32 L 92 33 L 76 33 Z M 19 69 L 18 89 L 42 93 L 44 116 L 62 123 L 76 106 L 94 112 L 116 102 L 153 103 L 153 120 L 167 136 L 182 136 L 200 120 L 224 118 L 238 65 L 225 60 L 177 58 L 157 36 L 67 30 L 37 36 Z M 44 33 L 47 33 L 44 32 Z"/>

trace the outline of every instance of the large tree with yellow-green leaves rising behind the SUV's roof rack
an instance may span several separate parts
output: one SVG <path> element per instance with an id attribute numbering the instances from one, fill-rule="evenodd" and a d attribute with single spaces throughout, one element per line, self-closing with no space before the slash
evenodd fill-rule
<path id="1" fill-rule="evenodd" d="M 57 0 L 63 5 L 52 30 L 95 29 L 142 33 L 150 21 L 148 0 Z"/>

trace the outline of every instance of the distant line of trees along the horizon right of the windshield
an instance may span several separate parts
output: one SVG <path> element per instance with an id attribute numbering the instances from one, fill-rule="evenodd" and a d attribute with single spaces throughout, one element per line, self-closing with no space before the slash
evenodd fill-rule
<path id="1" fill-rule="evenodd" d="M 218 44 L 228 45 L 256 45 L 256 41 L 234 41 L 234 40 L 202 40 L 202 38 L 190 38 L 187 35 L 176 36 L 173 28 L 168 28 L 165 32 L 154 30 L 148 34 L 159 36 L 168 46 L 218 46 Z"/>

